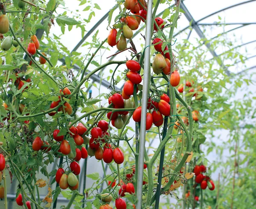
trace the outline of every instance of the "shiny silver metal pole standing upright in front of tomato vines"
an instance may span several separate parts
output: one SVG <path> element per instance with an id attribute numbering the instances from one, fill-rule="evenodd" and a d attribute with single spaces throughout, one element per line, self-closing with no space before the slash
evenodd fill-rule
<path id="1" fill-rule="evenodd" d="M 143 187 L 143 166 L 145 154 L 145 137 L 146 137 L 146 114 L 148 103 L 148 90 L 150 82 L 150 45 L 151 45 L 151 23 L 152 23 L 152 0 L 148 0 L 148 14 L 146 21 L 146 38 L 145 38 L 145 60 L 144 60 L 144 77 L 143 77 L 143 95 L 142 111 L 140 123 L 140 147 L 138 160 L 138 179 L 137 179 L 137 209 L 142 208 L 142 187 Z"/>

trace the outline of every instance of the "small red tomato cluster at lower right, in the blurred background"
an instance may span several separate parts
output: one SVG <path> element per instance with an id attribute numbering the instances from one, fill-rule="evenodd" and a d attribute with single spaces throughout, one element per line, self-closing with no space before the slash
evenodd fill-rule
<path id="1" fill-rule="evenodd" d="M 206 167 L 204 165 L 196 165 L 194 168 L 194 173 L 195 173 L 195 182 L 200 184 L 201 189 L 206 189 L 207 188 L 207 183 L 209 182 L 209 189 L 214 190 L 215 185 L 213 181 L 209 178 L 209 176 L 205 176 L 202 173 L 206 172 Z"/>

